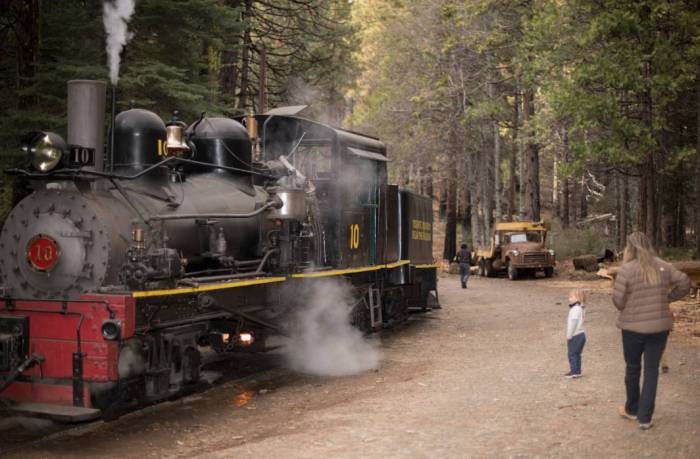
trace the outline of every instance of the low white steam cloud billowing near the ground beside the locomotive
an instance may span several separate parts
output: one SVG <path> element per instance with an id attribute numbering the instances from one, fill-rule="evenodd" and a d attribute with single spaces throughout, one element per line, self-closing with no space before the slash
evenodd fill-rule
<path id="1" fill-rule="evenodd" d="M 293 370 L 346 376 L 379 366 L 378 343 L 350 323 L 354 301 L 349 286 L 321 280 L 301 295 L 296 326 L 283 350 Z"/>

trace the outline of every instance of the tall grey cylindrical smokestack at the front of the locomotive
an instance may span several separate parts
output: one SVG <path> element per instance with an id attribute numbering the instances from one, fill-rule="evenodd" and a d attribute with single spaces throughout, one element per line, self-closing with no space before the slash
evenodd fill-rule
<path id="1" fill-rule="evenodd" d="M 107 85 L 97 80 L 68 82 L 68 144 L 93 149 L 96 171 L 104 170 Z"/>

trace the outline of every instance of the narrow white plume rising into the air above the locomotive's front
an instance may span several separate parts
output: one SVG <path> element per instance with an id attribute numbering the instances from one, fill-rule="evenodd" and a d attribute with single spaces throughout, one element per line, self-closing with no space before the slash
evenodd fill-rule
<path id="1" fill-rule="evenodd" d="M 134 0 L 105 1 L 102 22 L 107 32 L 107 58 L 109 60 L 109 79 L 113 85 L 119 80 L 119 63 L 122 49 L 131 39 L 127 25 L 134 14 Z"/>

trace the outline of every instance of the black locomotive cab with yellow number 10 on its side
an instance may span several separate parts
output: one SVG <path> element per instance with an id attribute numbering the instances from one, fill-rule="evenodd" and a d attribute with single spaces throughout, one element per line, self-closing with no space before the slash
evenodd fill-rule
<path id="1" fill-rule="evenodd" d="M 298 117 L 258 115 L 256 121 L 263 160 L 285 161 L 313 185 L 323 233 L 320 264 L 349 268 L 382 262 L 376 241 L 380 189 L 387 180 L 384 144 Z"/>

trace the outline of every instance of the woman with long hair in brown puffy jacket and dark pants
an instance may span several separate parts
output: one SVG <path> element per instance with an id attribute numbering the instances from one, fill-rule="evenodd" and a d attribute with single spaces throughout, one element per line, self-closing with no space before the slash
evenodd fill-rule
<path id="1" fill-rule="evenodd" d="M 683 298 L 689 290 L 688 276 L 656 257 L 643 233 L 629 235 L 613 290 L 626 363 L 627 402 L 619 407 L 619 413 L 637 420 L 644 430 L 652 426 L 659 360 L 673 325 L 669 303 Z M 642 357 L 644 384 L 640 394 Z"/>

